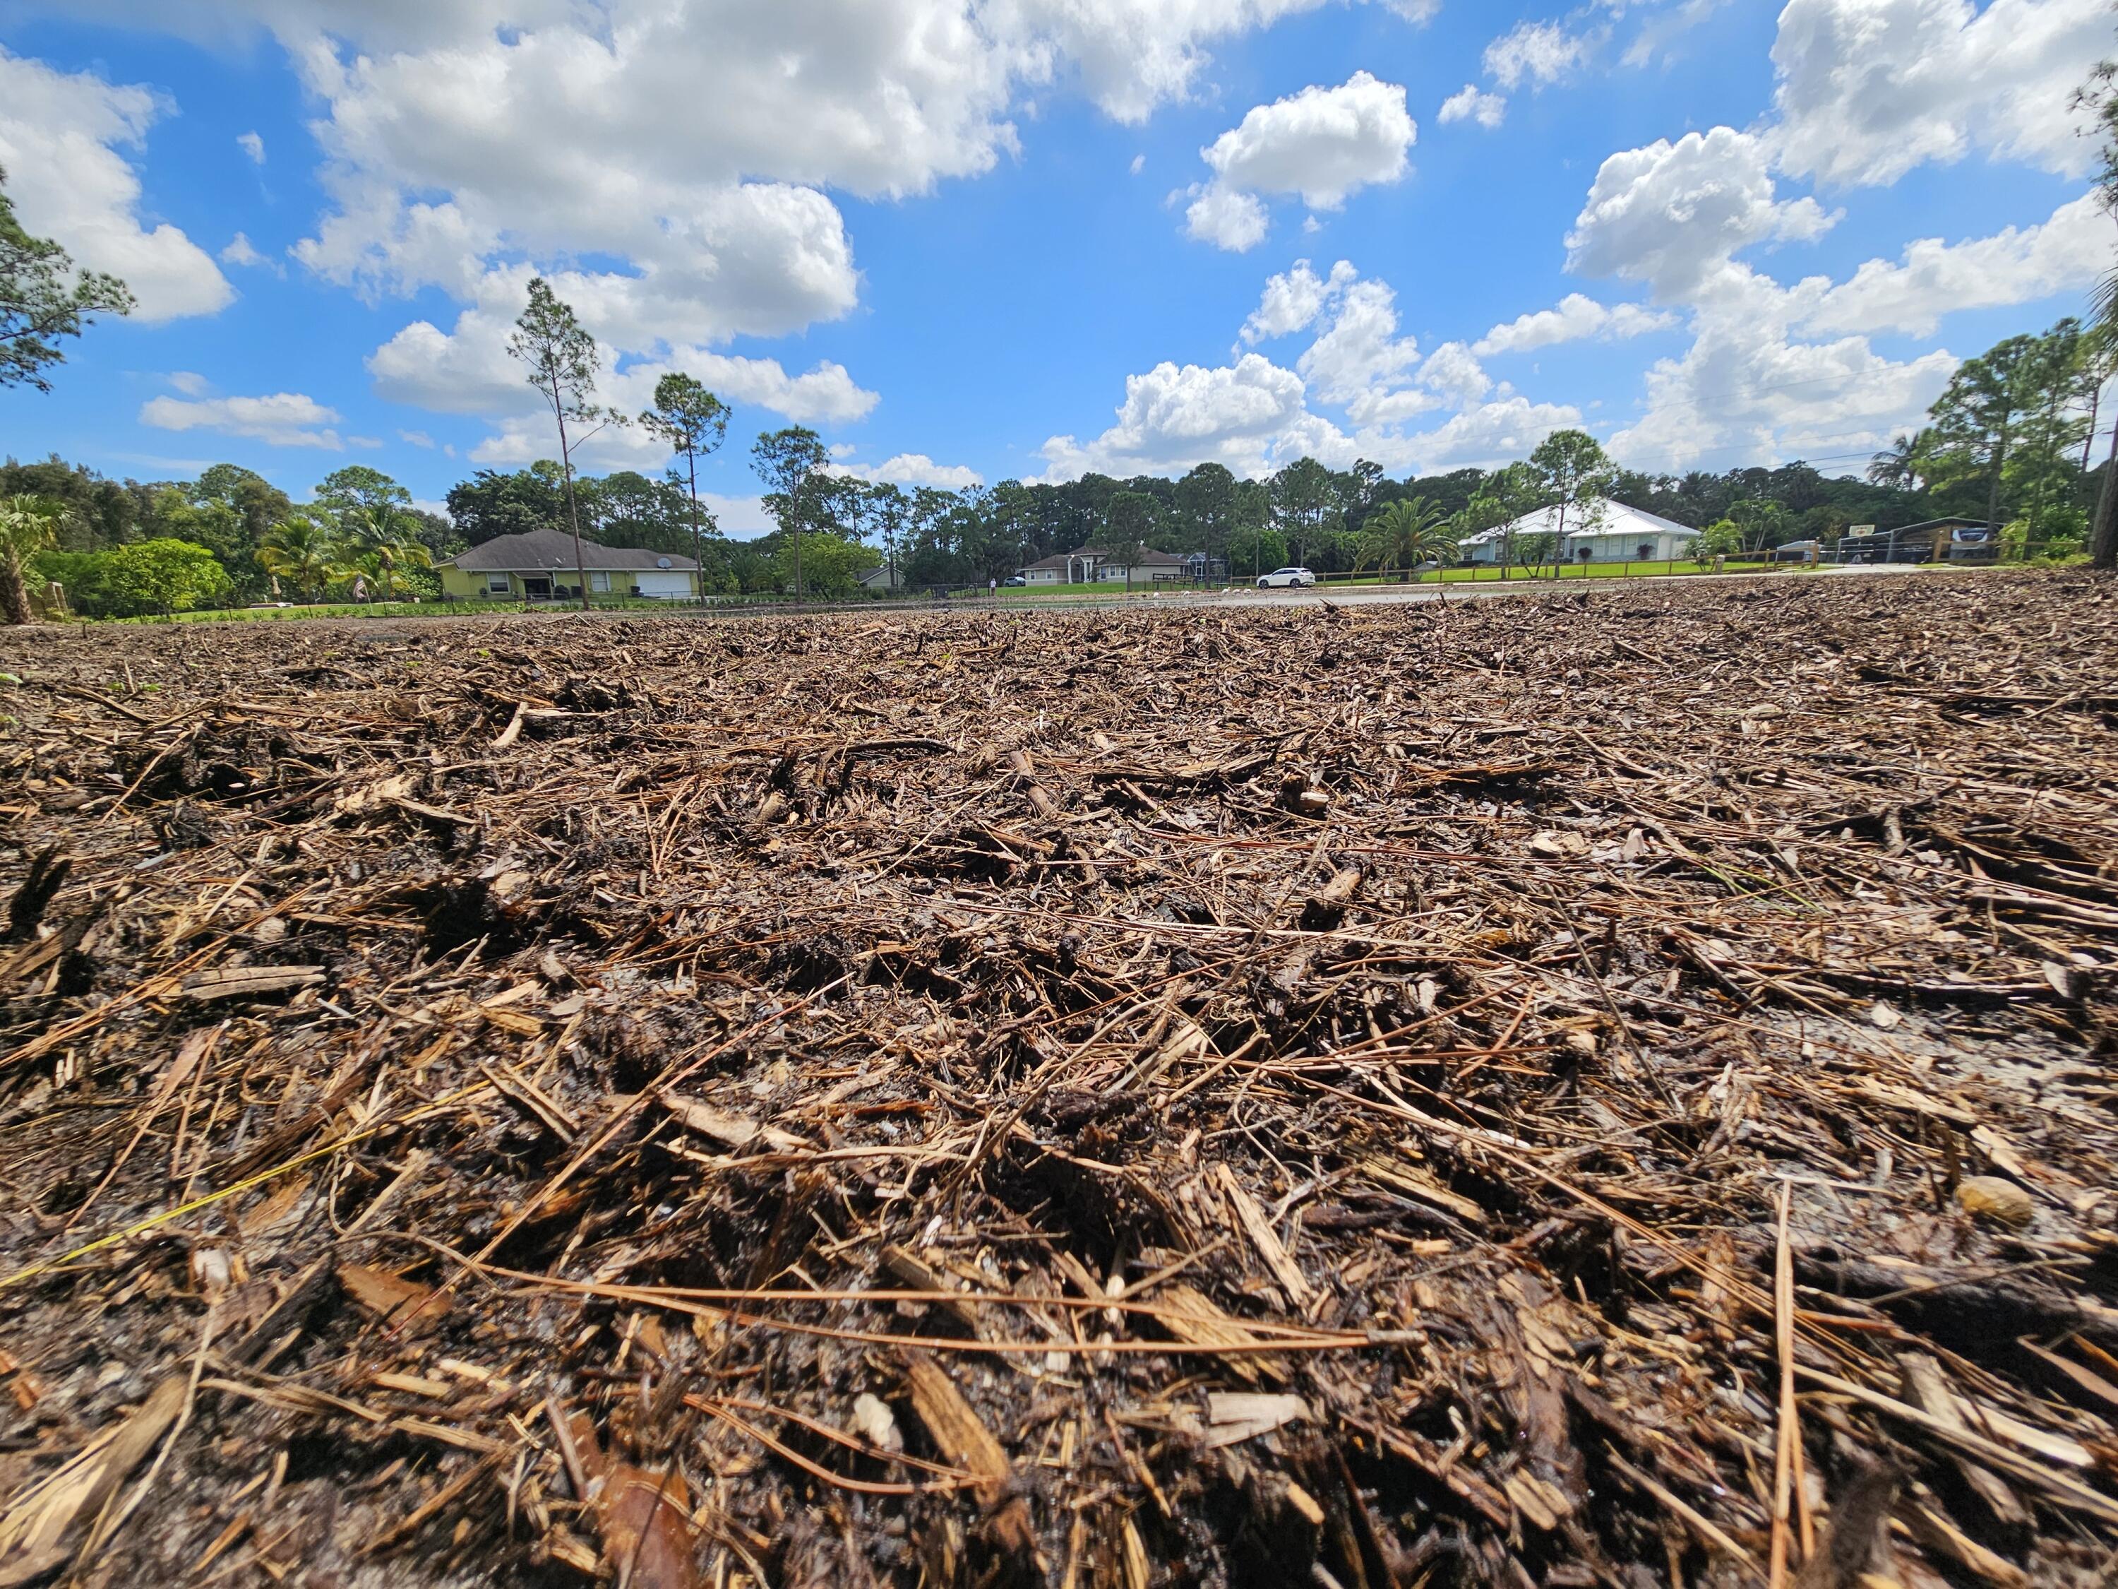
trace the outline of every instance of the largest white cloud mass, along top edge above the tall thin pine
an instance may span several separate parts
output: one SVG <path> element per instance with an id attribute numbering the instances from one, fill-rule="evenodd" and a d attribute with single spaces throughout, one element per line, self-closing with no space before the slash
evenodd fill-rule
<path id="1" fill-rule="evenodd" d="M 504 256 L 599 252 L 690 297 L 693 322 L 775 335 L 790 303 L 851 307 L 826 189 L 898 197 L 989 172 L 1019 146 L 1019 95 L 1059 81 L 1137 121 L 1190 91 L 1209 42 L 1320 4 L 523 0 L 504 28 L 483 2 L 210 8 L 269 17 L 326 108 L 335 208 L 299 250 L 316 271 L 470 297 Z"/>

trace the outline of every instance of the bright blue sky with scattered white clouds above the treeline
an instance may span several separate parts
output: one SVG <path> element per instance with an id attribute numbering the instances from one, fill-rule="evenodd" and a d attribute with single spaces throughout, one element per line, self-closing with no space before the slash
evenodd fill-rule
<path id="1" fill-rule="evenodd" d="M 142 303 L 0 445 L 432 502 L 553 451 L 504 354 L 544 271 L 612 403 L 733 400 L 737 534 L 788 422 L 943 485 L 1567 424 L 1851 470 L 2110 263 L 2067 97 L 2114 44 L 2107 0 L 0 0 L 21 218 Z"/>

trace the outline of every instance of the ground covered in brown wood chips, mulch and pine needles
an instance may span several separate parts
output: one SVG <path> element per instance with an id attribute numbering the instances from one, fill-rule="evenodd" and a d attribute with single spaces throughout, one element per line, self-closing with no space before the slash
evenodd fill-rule
<path id="1" fill-rule="evenodd" d="M 0 1585 L 2107 1581 L 2107 578 L 0 669 Z"/>

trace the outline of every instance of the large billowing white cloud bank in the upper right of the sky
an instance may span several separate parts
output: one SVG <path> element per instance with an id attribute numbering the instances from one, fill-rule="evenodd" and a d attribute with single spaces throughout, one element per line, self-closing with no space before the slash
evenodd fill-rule
<path id="1" fill-rule="evenodd" d="M 1612 451 L 1641 468 L 1726 468 L 1811 458 L 1845 466 L 1917 426 L 1957 369 L 1934 347 L 1891 358 L 1879 333 L 1934 337 L 1944 316 L 2035 303 L 2090 284 L 2110 261 L 2093 195 L 1987 237 L 1917 239 L 1847 280 L 1775 282 L 1756 258 L 1836 222 L 1785 199 L 1777 174 L 1887 184 L 1982 150 L 2080 169 L 2067 100 L 2110 42 L 2105 0 L 1790 0 L 1779 19 L 1777 119 L 1612 155 L 1567 235 L 1569 269 L 1644 282 L 1690 318 L 1692 343 L 1656 362 Z M 1622 335 L 1576 294 L 1495 326 L 1485 352 Z M 1639 311 L 1635 311 L 1639 314 Z M 1646 328 L 1635 320 L 1633 328 Z"/>

